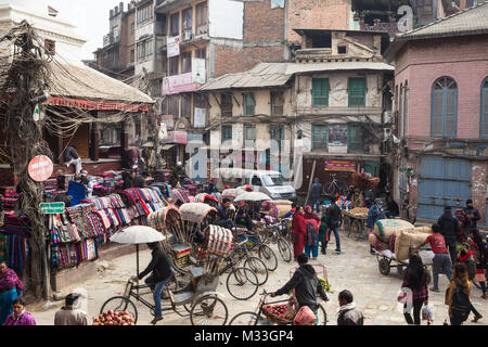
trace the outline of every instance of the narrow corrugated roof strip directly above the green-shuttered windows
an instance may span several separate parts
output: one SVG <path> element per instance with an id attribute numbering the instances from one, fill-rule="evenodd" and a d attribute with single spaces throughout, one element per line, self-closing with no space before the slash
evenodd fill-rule
<path id="1" fill-rule="evenodd" d="M 374 70 L 395 70 L 393 65 L 383 62 L 334 62 L 334 63 L 310 63 L 310 64 L 291 64 L 286 74 L 330 72 L 330 70 L 350 70 L 350 69 L 374 69 Z"/>

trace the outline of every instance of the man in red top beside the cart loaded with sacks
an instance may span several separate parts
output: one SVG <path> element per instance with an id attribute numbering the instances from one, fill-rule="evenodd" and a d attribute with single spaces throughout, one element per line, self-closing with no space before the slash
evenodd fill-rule
<path id="1" fill-rule="evenodd" d="M 427 243 L 431 245 L 432 252 L 434 252 L 434 259 L 432 264 L 432 272 L 434 278 L 434 286 L 431 288 L 433 292 L 439 292 L 439 274 L 447 275 L 448 281 L 452 277 L 452 261 L 449 256 L 449 250 L 446 247 L 446 241 L 440 234 L 440 227 L 437 224 L 432 226 L 433 233 L 425 239 L 425 242 L 419 247 L 412 247 L 412 250 L 416 250 Z"/>

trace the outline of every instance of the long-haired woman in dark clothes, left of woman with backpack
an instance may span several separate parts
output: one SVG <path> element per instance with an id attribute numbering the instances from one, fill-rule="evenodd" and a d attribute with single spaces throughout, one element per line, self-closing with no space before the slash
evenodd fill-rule
<path id="1" fill-rule="evenodd" d="M 407 297 L 403 306 L 403 316 L 408 324 L 421 324 L 422 306 L 428 305 L 427 271 L 419 255 L 411 255 L 406 269 L 402 288 L 409 288 L 411 296 Z M 413 320 L 412 320 L 413 309 Z"/>

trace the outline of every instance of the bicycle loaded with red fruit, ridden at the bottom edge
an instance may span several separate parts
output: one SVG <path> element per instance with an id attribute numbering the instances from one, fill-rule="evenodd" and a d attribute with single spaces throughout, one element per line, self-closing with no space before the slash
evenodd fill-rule
<path id="1" fill-rule="evenodd" d="M 255 311 L 244 311 L 241 313 L 235 314 L 231 321 L 229 322 L 229 325 L 266 325 L 268 324 L 269 318 L 265 314 L 265 306 L 267 305 L 273 305 L 273 304 L 281 304 L 281 303 L 287 303 L 291 304 L 291 300 L 293 298 L 287 298 L 284 300 L 277 300 L 277 301 L 266 301 L 267 297 L 271 295 L 271 293 L 267 293 L 264 291 L 261 294 L 261 298 L 256 307 Z M 326 325 L 328 323 L 328 314 L 325 312 L 325 309 L 321 304 L 317 304 L 317 316 L 318 316 L 318 324 L 317 325 Z M 297 312 L 295 312 L 296 316 Z M 294 316 L 294 317 L 295 317 Z M 274 321 L 275 322 L 275 321 Z M 288 322 L 280 322 L 279 324 L 282 325 L 293 325 L 293 319 L 291 319 Z"/>

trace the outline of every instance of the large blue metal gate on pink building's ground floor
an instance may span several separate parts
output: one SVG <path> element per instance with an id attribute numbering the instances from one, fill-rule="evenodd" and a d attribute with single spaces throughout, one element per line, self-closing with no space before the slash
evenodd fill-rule
<path id="1" fill-rule="evenodd" d="M 444 214 L 445 206 L 464 207 L 466 200 L 471 198 L 471 178 L 468 160 L 422 158 L 418 217 L 437 220 Z"/>

